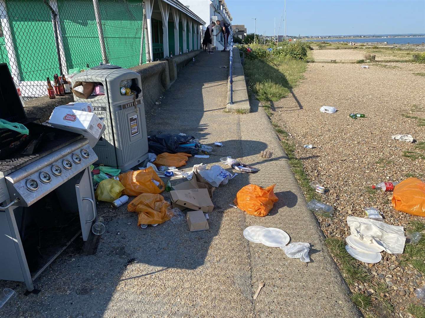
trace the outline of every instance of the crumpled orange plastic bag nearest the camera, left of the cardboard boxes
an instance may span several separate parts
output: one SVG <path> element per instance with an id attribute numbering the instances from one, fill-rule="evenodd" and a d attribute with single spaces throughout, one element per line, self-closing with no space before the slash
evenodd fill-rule
<path id="1" fill-rule="evenodd" d="M 170 220 L 167 208 L 170 204 L 164 200 L 160 194 L 142 193 L 134 198 L 128 206 L 129 212 L 138 212 L 137 225 L 140 224 L 160 224 Z"/>

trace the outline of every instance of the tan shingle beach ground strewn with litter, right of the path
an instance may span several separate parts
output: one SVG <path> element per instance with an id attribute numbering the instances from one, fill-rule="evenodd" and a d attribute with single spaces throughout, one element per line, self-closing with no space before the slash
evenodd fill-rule
<path id="1" fill-rule="evenodd" d="M 314 51 L 323 58 L 335 52 L 344 58 L 357 54 L 354 50 Z M 335 59 L 334 55 L 331 57 Z M 397 68 L 311 63 L 294 95 L 272 107 L 273 120 L 291 134 L 295 155 L 303 160 L 309 178 L 329 189 L 322 198 L 334 206 L 334 218 L 318 217 L 326 237 L 348 236 L 347 216 L 364 217 L 365 206 L 379 209 L 388 224 L 406 226 L 412 220 L 425 221 L 395 211 L 391 192 L 370 193 L 371 185 L 380 181 L 401 181 L 410 174 L 425 179 L 425 161 L 406 158 L 403 151 L 425 152 L 391 139 L 391 135 L 405 133 L 425 141 L 425 127 L 402 116 L 424 117 L 425 78 L 412 73 L 425 72 L 425 65 L 389 65 Z M 335 106 L 337 112 L 321 113 L 323 105 Z M 350 113 L 367 117 L 354 120 L 348 117 Z M 305 144 L 313 144 L 314 148 L 307 150 L 303 148 Z M 391 288 L 385 295 L 395 307 L 389 316 L 410 317 L 405 308 L 418 304 L 412 291 L 425 285 L 425 277 L 412 266 L 400 264 L 399 256 L 384 252 L 381 262 L 364 265 L 370 268 L 374 284 L 387 282 Z M 357 282 L 350 288 L 352 292 L 369 294 L 371 285 Z"/>

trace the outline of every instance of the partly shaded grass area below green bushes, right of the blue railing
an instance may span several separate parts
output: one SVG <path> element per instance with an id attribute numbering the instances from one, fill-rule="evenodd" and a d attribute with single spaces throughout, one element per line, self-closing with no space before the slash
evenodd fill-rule
<path id="1" fill-rule="evenodd" d="M 277 101 L 288 95 L 305 70 L 305 61 L 283 57 L 247 59 L 244 67 L 249 87 L 260 101 Z"/>

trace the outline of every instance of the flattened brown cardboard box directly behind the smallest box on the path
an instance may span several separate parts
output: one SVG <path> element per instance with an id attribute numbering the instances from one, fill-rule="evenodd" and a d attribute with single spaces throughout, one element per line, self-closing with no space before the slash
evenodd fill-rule
<path id="1" fill-rule="evenodd" d="M 204 213 L 214 209 L 207 189 L 173 190 L 170 195 L 173 208 L 202 210 Z"/>

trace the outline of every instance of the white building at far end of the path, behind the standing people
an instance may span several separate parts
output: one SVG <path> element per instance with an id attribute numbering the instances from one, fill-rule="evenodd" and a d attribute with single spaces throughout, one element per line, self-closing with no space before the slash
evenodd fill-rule
<path id="1" fill-rule="evenodd" d="M 202 38 L 207 25 L 211 21 L 224 20 L 228 24 L 232 22 L 232 16 L 224 0 L 180 0 L 180 2 L 205 21 L 205 25 L 202 27 Z M 214 34 L 218 34 L 218 36 L 213 36 L 212 45 L 215 45 L 218 50 L 222 50 L 224 48 L 224 39 L 218 26 L 214 28 Z"/>

